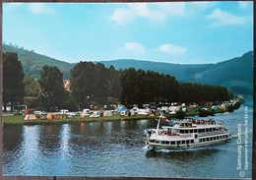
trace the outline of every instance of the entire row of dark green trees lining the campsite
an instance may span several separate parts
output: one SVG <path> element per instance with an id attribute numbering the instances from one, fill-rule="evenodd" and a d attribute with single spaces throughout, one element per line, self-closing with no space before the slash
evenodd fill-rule
<path id="1" fill-rule="evenodd" d="M 4 53 L 3 103 L 23 103 L 24 96 L 34 108 L 89 107 L 94 104 L 121 102 L 127 106 L 149 102 L 224 101 L 228 92 L 224 87 L 178 83 L 175 77 L 153 71 L 115 70 L 103 64 L 80 62 L 71 70 L 71 92 L 64 90 L 63 74 L 53 66 L 43 66 L 40 78 L 25 77 L 16 53 Z M 33 103 L 32 103 L 33 102 Z"/>

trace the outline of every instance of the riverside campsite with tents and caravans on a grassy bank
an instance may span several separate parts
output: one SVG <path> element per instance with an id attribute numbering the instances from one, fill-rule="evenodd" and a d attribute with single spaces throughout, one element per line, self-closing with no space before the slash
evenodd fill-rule
<path id="1" fill-rule="evenodd" d="M 24 114 L 4 114 L 3 124 L 48 124 L 48 123 L 74 123 L 74 122 L 95 122 L 95 121 L 116 121 L 116 120 L 141 120 L 156 119 L 160 114 L 164 114 L 168 118 L 184 118 L 185 116 L 214 116 L 216 113 L 231 112 L 239 108 L 243 103 L 243 99 L 235 99 L 219 105 L 197 106 L 187 105 L 184 103 L 171 105 L 169 107 L 133 107 L 128 109 L 123 105 L 119 105 L 115 110 L 90 110 L 69 112 L 68 109 L 62 109 L 59 112 L 44 112 L 26 109 Z M 228 108 L 232 107 L 232 108 Z M 173 109 L 176 109 L 173 111 Z M 180 117 L 180 114 L 183 116 Z"/>

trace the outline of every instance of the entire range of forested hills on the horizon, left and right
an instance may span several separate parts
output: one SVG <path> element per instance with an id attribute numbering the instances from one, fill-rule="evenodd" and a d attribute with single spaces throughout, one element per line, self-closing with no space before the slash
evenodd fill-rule
<path id="1" fill-rule="evenodd" d="M 39 78 L 43 65 L 57 66 L 63 72 L 63 78 L 69 79 L 70 70 L 75 64 L 59 61 L 36 54 L 22 48 L 3 45 L 3 52 L 17 52 L 23 63 L 26 76 Z M 95 62 L 97 63 L 97 62 Z M 241 57 L 235 57 L 217 64 L 171 64 L 132 59 L 100 61 L 106 67 L 113 65 L 115 69 L 134 67 L 136 70 L 151 70 L 174 76 L 179 82 L 221 85 L 236 93 L 252 94 L 253 92 L 253 52 L 249 51 Z"/>

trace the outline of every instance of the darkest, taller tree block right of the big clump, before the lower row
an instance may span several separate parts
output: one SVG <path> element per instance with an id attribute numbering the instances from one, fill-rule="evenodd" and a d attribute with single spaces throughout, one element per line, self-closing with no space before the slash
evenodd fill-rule
<path id="1" fill-rule="evenodd" d="M 178 82 L 169 75 L 129 68 L 120 71 L 120 82 L 125 105 L 178 100 Z"/>

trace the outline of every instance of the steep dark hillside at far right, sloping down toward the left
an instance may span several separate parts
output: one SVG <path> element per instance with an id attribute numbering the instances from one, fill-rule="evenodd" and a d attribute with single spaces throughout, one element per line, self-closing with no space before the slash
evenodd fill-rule
<path id="1" fill-rule="evenodd" d="M 198 72 L 193 79 L 199 83 L 222 85 L 237 93 L 252 93 L 253 52 L 218 63 L 208 70 Z"/>

